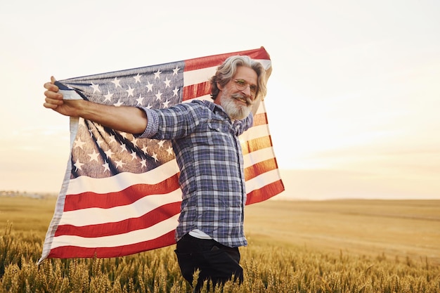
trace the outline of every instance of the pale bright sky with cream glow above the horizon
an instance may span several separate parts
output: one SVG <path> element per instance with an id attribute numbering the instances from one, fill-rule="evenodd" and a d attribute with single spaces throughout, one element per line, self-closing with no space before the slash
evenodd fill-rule
<path id="1" fill-rule="evenodd" d="M 60 190 L 51 75 L 264 46 L 276 198 L 440 199 L 440 1 L 65 2 L 0 4 L 0 190 Z"/>

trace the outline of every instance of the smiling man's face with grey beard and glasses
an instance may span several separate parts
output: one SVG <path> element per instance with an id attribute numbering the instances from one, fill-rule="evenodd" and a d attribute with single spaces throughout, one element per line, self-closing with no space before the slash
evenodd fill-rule
<path id="1" fill-rule="evenodd" d="M 257 79 L 257 72 L 252 68 L 238 67 L 233 79 L 220 89 L 219 97 L 214 103 L 221 105 L 231 119 L 245 119 L 252 110 L 257 93 Z"/>

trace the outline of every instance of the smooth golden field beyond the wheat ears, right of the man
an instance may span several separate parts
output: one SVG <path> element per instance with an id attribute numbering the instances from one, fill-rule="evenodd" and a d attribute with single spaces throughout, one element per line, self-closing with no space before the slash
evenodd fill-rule
<path id="1" fill-rule="evenodd" d="M 274 243 L 440 265 L 440 200 L 269 200 L 247 207 L 245 224 Z"/>

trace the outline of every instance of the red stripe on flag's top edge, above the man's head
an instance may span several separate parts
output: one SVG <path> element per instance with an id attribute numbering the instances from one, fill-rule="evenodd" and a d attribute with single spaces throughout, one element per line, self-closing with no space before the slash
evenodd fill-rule
<path id="1" fill-rule="evenodd" d="M 193 58 L 185 60 L 185 70 L 184 71 L 190 71 L 190 70 L 198 70 L 201 68 L 206 67 L 214 67 L 218 66 L 223 61 L 230 57 L 235 55 L 246 55 L 250 56 L 252 59 L 266 59 L 269 60 L 270 56 L 266 52 L 266 50 L 261 47 L 254 50 L 247 50 L 247 51 L 238 51 L 233 53 L 226 53 L 226 54 L 219 54 L 219 55 L 213 55 L 213 56 L 207 56 L 207 57 L 200 57 L 200 58 Z"/>

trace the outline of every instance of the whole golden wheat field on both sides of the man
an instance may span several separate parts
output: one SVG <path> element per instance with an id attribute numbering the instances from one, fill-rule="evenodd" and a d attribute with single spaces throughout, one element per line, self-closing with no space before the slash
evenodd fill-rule
<path id="1" fill-rule="evenodd" d="M 55 202 L 0 197 L 0 293 L 190 292 L 174 247 L 37 266 Z M 223 292 L 440 292 L 439 200 L 268 200 L 245 215 L 245 282 Z"/>

